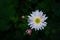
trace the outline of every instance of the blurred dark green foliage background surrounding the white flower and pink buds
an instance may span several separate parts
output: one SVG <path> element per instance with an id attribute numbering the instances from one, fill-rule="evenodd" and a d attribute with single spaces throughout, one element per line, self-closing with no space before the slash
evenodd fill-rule
<path id="1" fill-rule="evenodd" d="M 44 30 L 26 34 L 27 20 L 32 11 L 42 10 L 48 16 Z M 0 0 L 0 40 L 60 40 L 59 0 Z"/>

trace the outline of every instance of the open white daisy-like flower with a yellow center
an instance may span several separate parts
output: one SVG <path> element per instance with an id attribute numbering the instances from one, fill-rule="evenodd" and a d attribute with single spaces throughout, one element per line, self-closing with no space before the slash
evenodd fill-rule
<path id="1" fill-rule="evenodd" d="M 44 27 L 47 25 L 47 22 L 45 22 L 45 20 L 48 18 L 45 16 L 46 14 L 43 14 L 42 11 L 39 12 L 39 10 L 32 12 L 32 14 L 28 16 L 28 25 L 30 25 L 31 29 L 44 29 Z"/>

